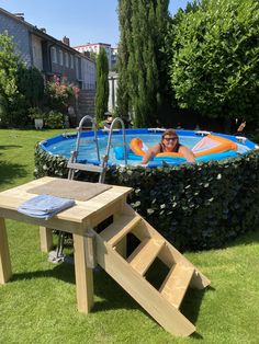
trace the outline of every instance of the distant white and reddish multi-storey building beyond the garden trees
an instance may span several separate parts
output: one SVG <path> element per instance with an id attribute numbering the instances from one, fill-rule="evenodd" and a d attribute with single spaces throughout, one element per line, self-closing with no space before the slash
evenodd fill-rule
<path id="1" fill-rule="evenodd" d="M 117 56 L 117 48 L 112 48 L 111 44 L 106 43 L 87 43 L 85 45 L 79 45 L 74 47 L 74 49 L 78 50 L 79 53 L 89 53 L 90 54 L 99 54 L 100 49 L 104 48 L 106 51 L 109 69 L 111 69 L 116 64 L 116 56 Z"/>

